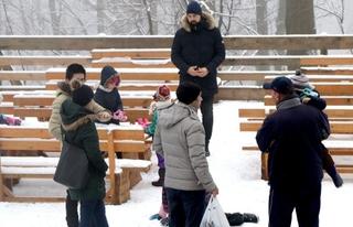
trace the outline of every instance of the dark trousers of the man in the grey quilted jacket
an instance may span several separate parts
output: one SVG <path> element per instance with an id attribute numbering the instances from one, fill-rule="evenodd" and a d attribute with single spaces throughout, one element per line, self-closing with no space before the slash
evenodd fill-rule
<path id="1" fill-rule="evenodd" d="M 170 227 L 200 226 L 204 214 L 205 191 L 165 188 Z"/>

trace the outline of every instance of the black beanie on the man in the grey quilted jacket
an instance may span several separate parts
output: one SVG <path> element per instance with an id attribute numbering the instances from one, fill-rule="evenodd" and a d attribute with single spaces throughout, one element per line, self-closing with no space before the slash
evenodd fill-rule
<path id="1" fill-rule="evenodd" d="M 178 100 L 186 105 L 196 100 L 200 93 L 200 86 L 191 82 L 182 83 L 176 88 Z"/>

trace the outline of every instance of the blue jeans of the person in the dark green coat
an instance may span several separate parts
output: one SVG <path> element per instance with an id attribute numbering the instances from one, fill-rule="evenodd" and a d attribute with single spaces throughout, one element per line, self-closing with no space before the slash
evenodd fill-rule
<path id="1" fill-rule="evenodd" d="M 108 227 L 103 199 L 81 201 L 79 227 L 88 226 Z"/>

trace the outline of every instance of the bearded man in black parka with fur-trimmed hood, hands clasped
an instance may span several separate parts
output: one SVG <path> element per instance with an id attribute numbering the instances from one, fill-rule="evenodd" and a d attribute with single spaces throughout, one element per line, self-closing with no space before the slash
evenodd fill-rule
<path id="1" fill-rule="evenodd" d="M 202 12 L 200 4 L 188 4 L 176 31 L 171 60 L 180 69 L 180 83 L 193 82 L 202 89 L 202 123 L 205 129 L 206 155 L 213 128 L 213 97 L 217 93 L 217 67 L 225 58 L 225 48 L 214 18 Z"/>

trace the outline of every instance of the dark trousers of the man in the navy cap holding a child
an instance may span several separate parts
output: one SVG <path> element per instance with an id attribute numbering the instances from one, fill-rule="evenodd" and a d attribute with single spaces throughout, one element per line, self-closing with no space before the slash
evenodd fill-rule
<path id="1" fill-rule="evenodd" d="M 296 208 L 299 227 L 319 227 L 321 184 L 306 190 L 274 190 L 269 194 L 269 227 L 290 227 Z"/>

